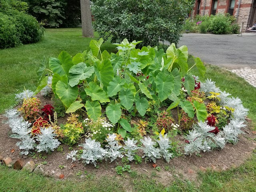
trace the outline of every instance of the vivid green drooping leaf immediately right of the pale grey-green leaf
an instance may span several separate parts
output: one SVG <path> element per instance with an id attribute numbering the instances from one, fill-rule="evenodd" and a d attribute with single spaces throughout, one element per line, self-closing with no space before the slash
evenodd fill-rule
<path id="1" fill-rule="evenodd" d="M 101 85 L 103 85 L 103 89 L 106 91 L 109 82 L 114 78 L 114 71 L 110 60 L 97 61 L 94 64 L 94 71 Z"/>

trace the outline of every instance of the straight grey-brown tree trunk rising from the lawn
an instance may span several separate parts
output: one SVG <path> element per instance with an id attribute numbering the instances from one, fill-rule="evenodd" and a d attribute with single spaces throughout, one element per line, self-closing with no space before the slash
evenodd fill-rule
<path id="1" fill-rule="evenodd" d="M 83 37 L 94 37 L 90 0 L 80 0 Z"/>

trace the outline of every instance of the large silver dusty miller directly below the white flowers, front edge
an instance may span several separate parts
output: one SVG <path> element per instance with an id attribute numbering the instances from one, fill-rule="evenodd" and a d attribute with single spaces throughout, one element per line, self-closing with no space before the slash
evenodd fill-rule
<path id="1" fill-rule="evenodd" d="M 94 164 L 95 167 L 97 161 L 103 160 L 108 153 L 101 147 L 100 142 L 95 141 L 95 139 L 92 140 L 91 138 L 86 139 L 85 143 L 79 146 L 84 148 L 81 159 L 83 159 L 86 164 Z"/>

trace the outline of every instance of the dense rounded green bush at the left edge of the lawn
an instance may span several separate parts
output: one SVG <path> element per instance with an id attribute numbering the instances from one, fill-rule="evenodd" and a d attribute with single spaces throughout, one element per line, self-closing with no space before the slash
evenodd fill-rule
<path id="1" fill-rule="evenodd" d="M 42 38 L 43 28 L 26 10 L 25 2 L 0 0 L 0 48 L 38 42 Z"/>

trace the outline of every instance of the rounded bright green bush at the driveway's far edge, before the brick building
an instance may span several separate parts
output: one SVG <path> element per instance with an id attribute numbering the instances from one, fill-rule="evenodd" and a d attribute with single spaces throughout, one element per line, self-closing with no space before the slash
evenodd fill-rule
<path id="1" fill-rule="evenodd" d="M 231 21 L 224 14 L 210 17 L 209 31 L 213 34 L 227 34 L 231 30 Z"/>

